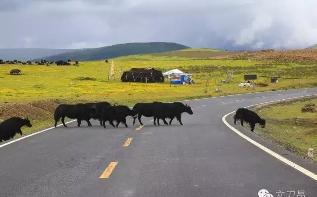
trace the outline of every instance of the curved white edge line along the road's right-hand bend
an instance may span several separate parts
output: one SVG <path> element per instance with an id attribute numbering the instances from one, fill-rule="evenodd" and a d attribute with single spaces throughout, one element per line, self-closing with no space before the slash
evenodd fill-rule
<path id="1" fill-rule="evenodd" d="M 295 99 L 295 98 L 301 98 L 301 97 L 308 97 L 308 96 L 315 96 L 317 94 L 313 94 L 313 95 L 307 95 L 307 96 L 299 96 L 299 97 L 293 97 L 293 98 L 288 98 L 288 99 L 281 99 L 281 100 L 276 100 L 276 101 L 269 101 L 269 102 L 264 102 L 264 103 L 260 103 L 260 104 L 255 104 L 255 105 L 249 105 L 247 107 L 244 108 L 248 108 L 248 107 L 253 107 L 256 105 L 262 105 L 262 104 L 266 104 L 266 103 L 273 103 L 273 102 L 278 102 L 278 101 L 284 101 L 284 100 L 289 100 L 289 99 Z M 234 127 L 232 127 L 227 121 L 226 118 L 228 115 L 235 113 L 236 111 L 230 112 L 226 115 L 224 115 L 222 117 L 222 122 L 228 127 L 230 128 L 232 131 L 236 132 L 238 135 L 240 135 L 241 137 L 243 137 L 244 139 L 246 139 L 247 141 L 249 141 L 250 143 L 252 143 L 253 145 L 261 148 L 262 150 L 264 150 L 266 153 L 272 155 L 273 157 L 279 159 L 280 161 L 284 162 L 285 164 L 295 168 L 296 170 L 300 171 L 301 173 L 311 177 L 312 179 L 314 179 L 315 181 L 317 181 L 317 175 L 314 174 L 313 172 L 297 165 L 296 163 L 286 159 L 285 157 L 282 157 L 281 155 L 277 154 L 276 152 L 266 148 L 264 145 L 256 142 L 255 140 L 251 139 L 250 137 L 246 136 L 245 134 L 243 134 L 242 132 L 238 131 L 237 129 L 235 129 Z"/>

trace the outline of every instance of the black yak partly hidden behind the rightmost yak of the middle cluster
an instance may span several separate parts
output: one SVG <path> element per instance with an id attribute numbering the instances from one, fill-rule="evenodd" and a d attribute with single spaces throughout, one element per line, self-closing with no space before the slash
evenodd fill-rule
<path id="1" fill-rule="evenodd" d="M 138 116 L 133 117 L 133 125 L 135 124 L 135 120 L 138 118 L 140 125 L 143 125 L 141 122 L 141 117 L 153 117 L 154 116 L 154 106 L 161 102 L 153 102 L 153 103 L 137 103 L 133 107 L 133 111 L 135 111 Z M 156 125 L 156 123 L 154 123 Z"/>

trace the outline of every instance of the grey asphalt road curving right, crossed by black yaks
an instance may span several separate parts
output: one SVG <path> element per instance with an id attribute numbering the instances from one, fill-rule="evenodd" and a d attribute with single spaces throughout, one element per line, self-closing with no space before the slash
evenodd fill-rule
<path id="1" fill-rule="evenodd" d="M 186 101 L 194 115 L 183 126 L 154 126 L 142 118 L 129 128 L 106 130 L 70 123 L 0 148 L 0 197 L 258 197 L 260 189 L 305 191 L 317 181 L 246 141 L 221 121 L 240 107 L 317 94 L 317 89 L 274 91 Z M 232 116 L 227 121 L 232 124 Z M 317 174 L 317 165 L 263 140 L 252 139 Z M 259 127 L 259 126 L 257 126 Z M 257 127 L 255 130 L 257 130 Z M 131 143 L 124 147 L 128 138 Z M 107 179 L 100 179 L 117 162 Z M 293 193 L 290 193 L 293 195 Z"/>

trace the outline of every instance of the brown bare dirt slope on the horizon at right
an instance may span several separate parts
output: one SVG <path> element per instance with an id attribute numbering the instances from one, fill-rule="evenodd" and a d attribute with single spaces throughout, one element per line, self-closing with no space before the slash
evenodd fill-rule
<path id="1" fill-rule="evenodd" d="M 289 51 L 245 51 L 227 56 L 216 56 L 213 59 L 241 59 L 241 60 L 256 60 L 256 61 L 278 61 L 278 62 L 317 62 L 317 50 L 304 49 L 304 50 L 289 50 Z"/>

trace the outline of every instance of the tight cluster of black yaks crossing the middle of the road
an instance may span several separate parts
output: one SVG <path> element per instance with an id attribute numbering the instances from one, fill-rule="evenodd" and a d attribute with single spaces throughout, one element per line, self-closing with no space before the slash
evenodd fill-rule
<path id="1" fill-rule="evenodd" d="M 99 120 L 100 125 L 106 128 L 106 122 L 112 127 L 118 127 L 120 123 L 128 127 L 126 122 L 126 117 L 130 116 L 133 118 L 133 125 L 135 120 L 138 118 L 141 125 L 141 117 L 154 117 L 154 125 L 159 125 L 159 119 L 161 119 L 165 125 L 168 125 L 166 118 L 169 118 L 169 125 L 171 125 L 172 120 L 176 117 L 181 125 L 181 114 L 187 112 L 192 115 L 193 111 L 189 105 L 184 105 L 181 102 L 174 103 L 137 103 L 130 109 L 124 105 L 113 105 L 111 106 L 108 102 L 99 103 L 85 103 L 76 105 L 59 105 L 54 112 L 55 127 L 57 122 L 61 119 L 64 127 L 67 127 L 64 120 L 65 117 L 70 119 L 77 119 L 77 126 L 80 127 L 82 121 L 86 121 L 88 126 L 92 126 L 90 119 Z M 116 122 L 116 125 L 113 122 Z"/>

